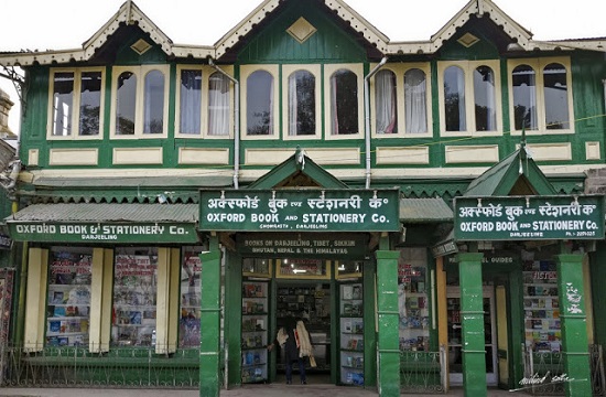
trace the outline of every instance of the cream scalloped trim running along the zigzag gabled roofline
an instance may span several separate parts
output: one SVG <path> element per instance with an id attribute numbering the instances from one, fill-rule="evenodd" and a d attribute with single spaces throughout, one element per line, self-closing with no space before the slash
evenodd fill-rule
<path id="1" fill-rule="evenodd" d="M 219 39 L 215 45 L 183 45 L 174 44 L 160 28 L 155 25 L 131 0 L 125 2 L 118 12 L 99 29 L 82 49 L 46 51 L 46 52 L 15 52 L 0 53 L 0 65 L 29 66 L 34 63 L 53 64 L 73 61 L 85 62 L 91 58 L 95 52 L 104 45 L 119 29 L 120 24 L 137 24 L 151 40 L 169 56 L 193 57 L 204 60 L 219 58 L 229 49 L 242 43 L 251 31 L 262 29 L 262 22 L 269 21 L 279 7 L 286 1 L 300 0 L 264 0 L 241 20 L 235 28 Z M 344 0 L 314 0 L 317 4 L 332 10 L 336 18 L 358 32 L 364 40 L 383 55 L 433 54 L 444 43 L 455 35 L 457 30 L 473 18 L 487 19 L 496 26 L 502 28 L 504 37 L 518 44 L 518 52 L 526 51 L 597 51 L 606 52 L 604 37 L 564 41 L 534 41 L 532 33 L 521 26 L 498 8 L 491 0 L 469 0 L 446 24 L 443 25 L 429 41 L 391 42 L 383 33 L 368 22 L 364 17 L 351 9 Z M 313 3 L 313 2 L 310 2 Z"/>

